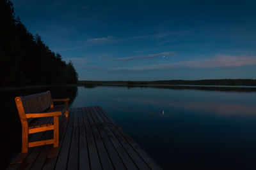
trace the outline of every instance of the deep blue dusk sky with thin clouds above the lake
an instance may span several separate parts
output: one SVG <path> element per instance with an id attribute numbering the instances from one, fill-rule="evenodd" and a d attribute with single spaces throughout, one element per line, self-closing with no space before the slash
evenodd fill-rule
<path id="1" fill-rule="evenodd" d="M 253 0 L 12 2 L 79 80 L 256 78 Z"/>

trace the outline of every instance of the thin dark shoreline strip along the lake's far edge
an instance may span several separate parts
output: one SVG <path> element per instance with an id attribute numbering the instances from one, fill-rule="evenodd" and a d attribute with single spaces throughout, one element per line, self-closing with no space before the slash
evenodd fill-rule
<path id="1" fill-rule="evenodd" d="M 256 80 L 253 79 L 220 79 L 220 80 L 159 80 L 159 81 L 77 81 L 77 84 L 65 85 L 27 85 L 22 87 L 2 87 L 0 90 L 34 89 L 42 87 L 58 86 L 83 86 L 93 88 L 97 86 L 119 86 L 119 87 L 157 87 L 175 88 L 246 88 L 256 89 Z"/>

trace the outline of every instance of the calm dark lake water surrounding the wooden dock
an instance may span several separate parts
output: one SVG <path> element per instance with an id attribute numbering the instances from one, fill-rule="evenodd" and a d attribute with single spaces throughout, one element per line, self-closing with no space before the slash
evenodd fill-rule
<path id="1" fill-rule="evenodd" d="M 15 96 L 51 90 L 101 106 L 164 169 L 256 169 L 256 88 L 42 87 L 1 90 L 1 167 L 19 152 Z"/>

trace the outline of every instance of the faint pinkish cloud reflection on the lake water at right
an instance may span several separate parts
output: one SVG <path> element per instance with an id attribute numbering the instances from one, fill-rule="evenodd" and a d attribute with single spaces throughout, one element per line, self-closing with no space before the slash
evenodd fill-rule
<path id="1" fill-rule="evenodd" d="M 212 103 L 212 102 L 195 102 L 195 101 L 166 101 L 154 99 L 138 99 L 130 98 L 129 101 L 143 104 L 153 104 L 155 106 L 168 106 L 173 108 L 181 108 L 193 111 L 204 111 L 214 113 L 219 116 L 233 116 L 233 115 L 256 115 L 256 106 L 247 106 L 245 104 L 233 103 Z M 143 111 L 145 112 L 145 110 Z M 162 116 L 164 111 L 162 112 Z M 168 115 L 168 114 L 167 114 Z M 166 117 L 166 115 L 164 115 Z"/>

